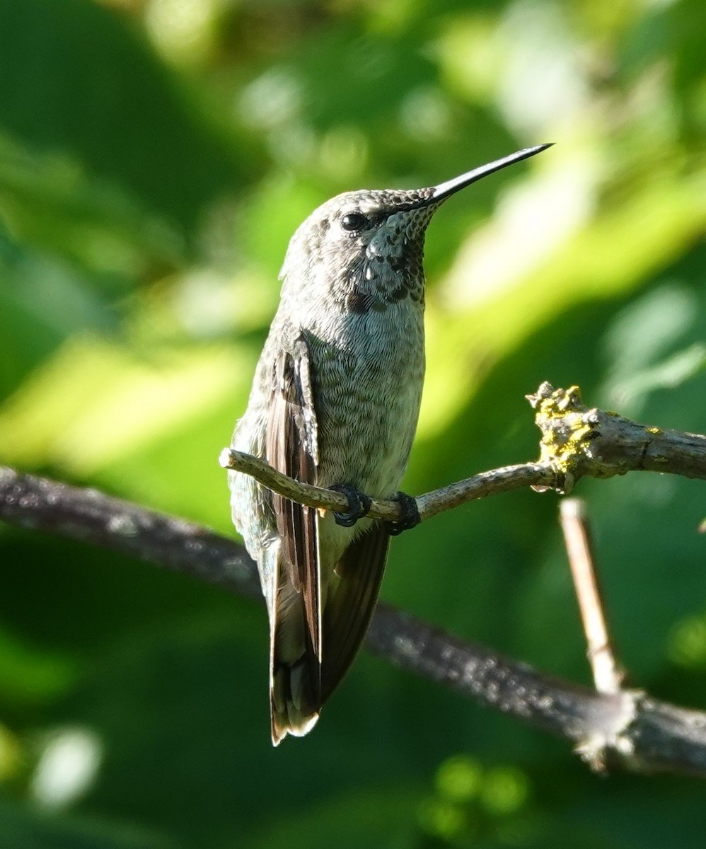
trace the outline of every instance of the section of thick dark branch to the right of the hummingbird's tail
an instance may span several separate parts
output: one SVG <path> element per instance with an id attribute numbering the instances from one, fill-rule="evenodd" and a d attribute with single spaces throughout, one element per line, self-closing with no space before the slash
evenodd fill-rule
<path id="1" fill-rule="evenodd" d="M 601 694 L 378 604 L 367 644 L 424 678 L 574 742 L 591 768 L 706 778 L 706 712 L 636 690 Z"/>

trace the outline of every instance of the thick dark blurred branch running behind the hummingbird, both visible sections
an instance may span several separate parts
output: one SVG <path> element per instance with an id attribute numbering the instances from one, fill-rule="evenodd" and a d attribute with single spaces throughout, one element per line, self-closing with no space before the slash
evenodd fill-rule
<path id="1" fill-rule="evenodd" d="M 0 467 L 0 519 L 260 598 L 255 566 L 236 543 L 95 490 Z M 568 739 L 592 764 L 600 752 L 630 769 L 706 777 L 706 713 L 559 681 L 387 605 L 378 605 L 367 644 L 398 666 Z"/>

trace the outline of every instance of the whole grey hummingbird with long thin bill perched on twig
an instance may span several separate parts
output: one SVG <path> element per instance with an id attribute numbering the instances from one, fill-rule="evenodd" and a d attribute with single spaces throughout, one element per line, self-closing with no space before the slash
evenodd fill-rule
<path id="1" fill-rule="evenodd" d="M 418 521 L 399 486 L 422 398 L 429 221 L 452 194 L 549 146 L 430 188 L 339 194 L 289 242 L 232 447 L 297 481 L 339 489 L 349 509 L 306 507 L 228 473 L 233 522 L 257 562 L 269 615 L 274 745 L 317 722 L 367 632 L 390 537 Z M 368 518 L 371 497 L 397 498 L 401 521 Z"/>

